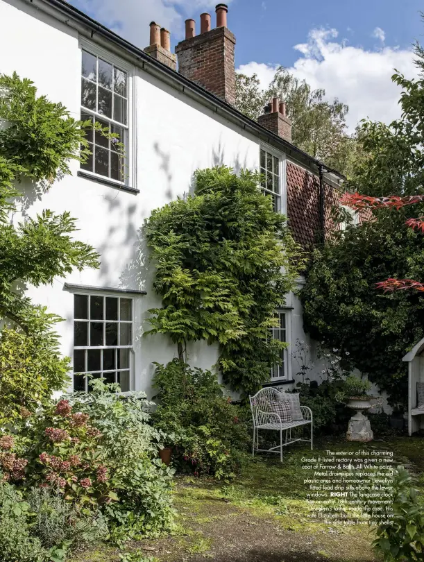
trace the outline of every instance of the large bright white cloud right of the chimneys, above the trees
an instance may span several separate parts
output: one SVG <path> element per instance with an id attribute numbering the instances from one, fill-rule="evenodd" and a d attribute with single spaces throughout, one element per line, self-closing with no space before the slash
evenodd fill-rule
<path id="1" fill-rule="evenodd" d="M 350 131 L 366 117 L 384 123 L 399 117 L 400 89 L 391 82 L 391 76 L 393 69 L 407 77 L 416 76 L 412 51 L 396 46 L 368 51 L 361 46 L 350 46 L 337 37 L 335 29 L 312 30 L 306 43 L 294 46 L 300 56 L 288 70 L 305 79 L 313 89 L 324 88 L 327 99 L 338 98 L 347 103 Z M 249 75 L 256 72 L 266 87 L 275 67 L 249 62 L 239 70 Z"/>

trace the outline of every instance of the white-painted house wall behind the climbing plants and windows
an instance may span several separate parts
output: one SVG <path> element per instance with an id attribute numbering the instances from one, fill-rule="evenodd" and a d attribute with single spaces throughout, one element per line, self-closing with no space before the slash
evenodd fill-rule
<path id="1" fill-rule="evenodd" d="M 132 60 L 124 51 L 118 52 L 116 46 L 110 46 L 108 51 L 104 42 L 102 46 L 95 42 L 95 36 L 91 40 L 88 32 L 83 36 L 71 25 L 46 15 L 38 9 L 41 4 L 37 0 L 33 3 L 0 0 L 0 72 L 16 71 L 19 76 L 30 78 L 39 94 L 60 101 L 78 119 L 82 46 L 106 60 L 117 60 L 121 67 L 128 69 L 131 108 L 128 181 L 139 193 L 78 177 L 78 162 L 71 164 L 72 176 L 57 181 L 47 193 L 36 194 L 34 187 L 27 186 L 22 215 L 35 216 L 42 209 L 69 211 L 78 219 L 78 239 L 92 244 L 101 254 L 99 270 L 74 272 L 54 282 L 53 287 L 28 287 L 28 295 L 35 303 L 46 305 L 65 319 L 58 325 L 61 350 L 72 357 L 74 295 L 64 289 L 65 282 L 99 290 L 102 287 L 146 290 L 146 296 L 133 296 L 133 389 L 144 390 L 150 396 L 153 361 L 169 361 L 176 355 L 176 348 L 164 337 L 142 337 L 147 327 L 147 310 L 160 305 L 160 300 L 153 293 L 152 271 L 143 244 L 139 244 L 140 228 L 152 210 L 190 191 L 196 169 L 217 164 L 226 164 L 236 171 L 257 169 L 260 139 L 193 96 L 144 71 L 135 58 Z M 283 161 L 284 155 L 281 157 Z M 282 178 L 285 180 L 284 173 Z M 284 196 L 285 185 L 282 188 Z M 303 332 L 298 298 L 289 296 L 287 307 L 291 307 L 288 318 L 292 347 L 296 339 L 309 341 Z M 189 361 L 196 366 L 210 368 L 217 361 L 216 346 L 198 343 L 190 346 L 188 352 Z M 291 374 L 296 375 L 298 364 L 291 357 L 289 361 Z M 319 366 L 310 376 L 316 378 L 317 373 Z"/>

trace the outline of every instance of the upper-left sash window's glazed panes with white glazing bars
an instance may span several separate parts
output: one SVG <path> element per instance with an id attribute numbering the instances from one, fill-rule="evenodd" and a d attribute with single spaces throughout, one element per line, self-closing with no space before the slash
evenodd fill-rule
<path id="1" fill-rule="evenodd" d="M 96 121 L 128 147 L 128 72 L 83 49 L 81 120 Z M 86 131 L 92 154 L 81 168 L 118 182 L 125 181 L 125 158 L 114 139 L 91 128 Z"/>

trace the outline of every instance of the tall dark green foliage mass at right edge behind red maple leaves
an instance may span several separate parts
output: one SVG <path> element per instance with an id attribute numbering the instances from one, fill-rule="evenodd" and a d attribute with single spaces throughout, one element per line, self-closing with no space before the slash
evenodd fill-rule
<path id="1" fill-rule="evenodd" d="M 416 55 L 423 63 L 424 51 Z M 402 356 L 424 336 L 424 76 L 392 80 L 401 117 L 362 124 L 366 153 L 341 198 L 373 219 L 316 250 L 301 298 L 307 330 L 348 350 L 352 366 L 398 402 L 407 397 Z"/>

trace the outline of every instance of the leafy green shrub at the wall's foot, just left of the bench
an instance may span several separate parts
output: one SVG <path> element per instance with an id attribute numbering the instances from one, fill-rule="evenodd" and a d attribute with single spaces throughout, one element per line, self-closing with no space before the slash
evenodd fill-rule
<path id="1" fill-rule="evenodd" d="M 171 433 L 180 463 L 195 475 L 235 475 L 244 461 L 250 414 L 223 395 L 211 371 L 190 368 L 175 359 L 156 365 L 153 384 L 159 406 L 155 427 Z"/>

